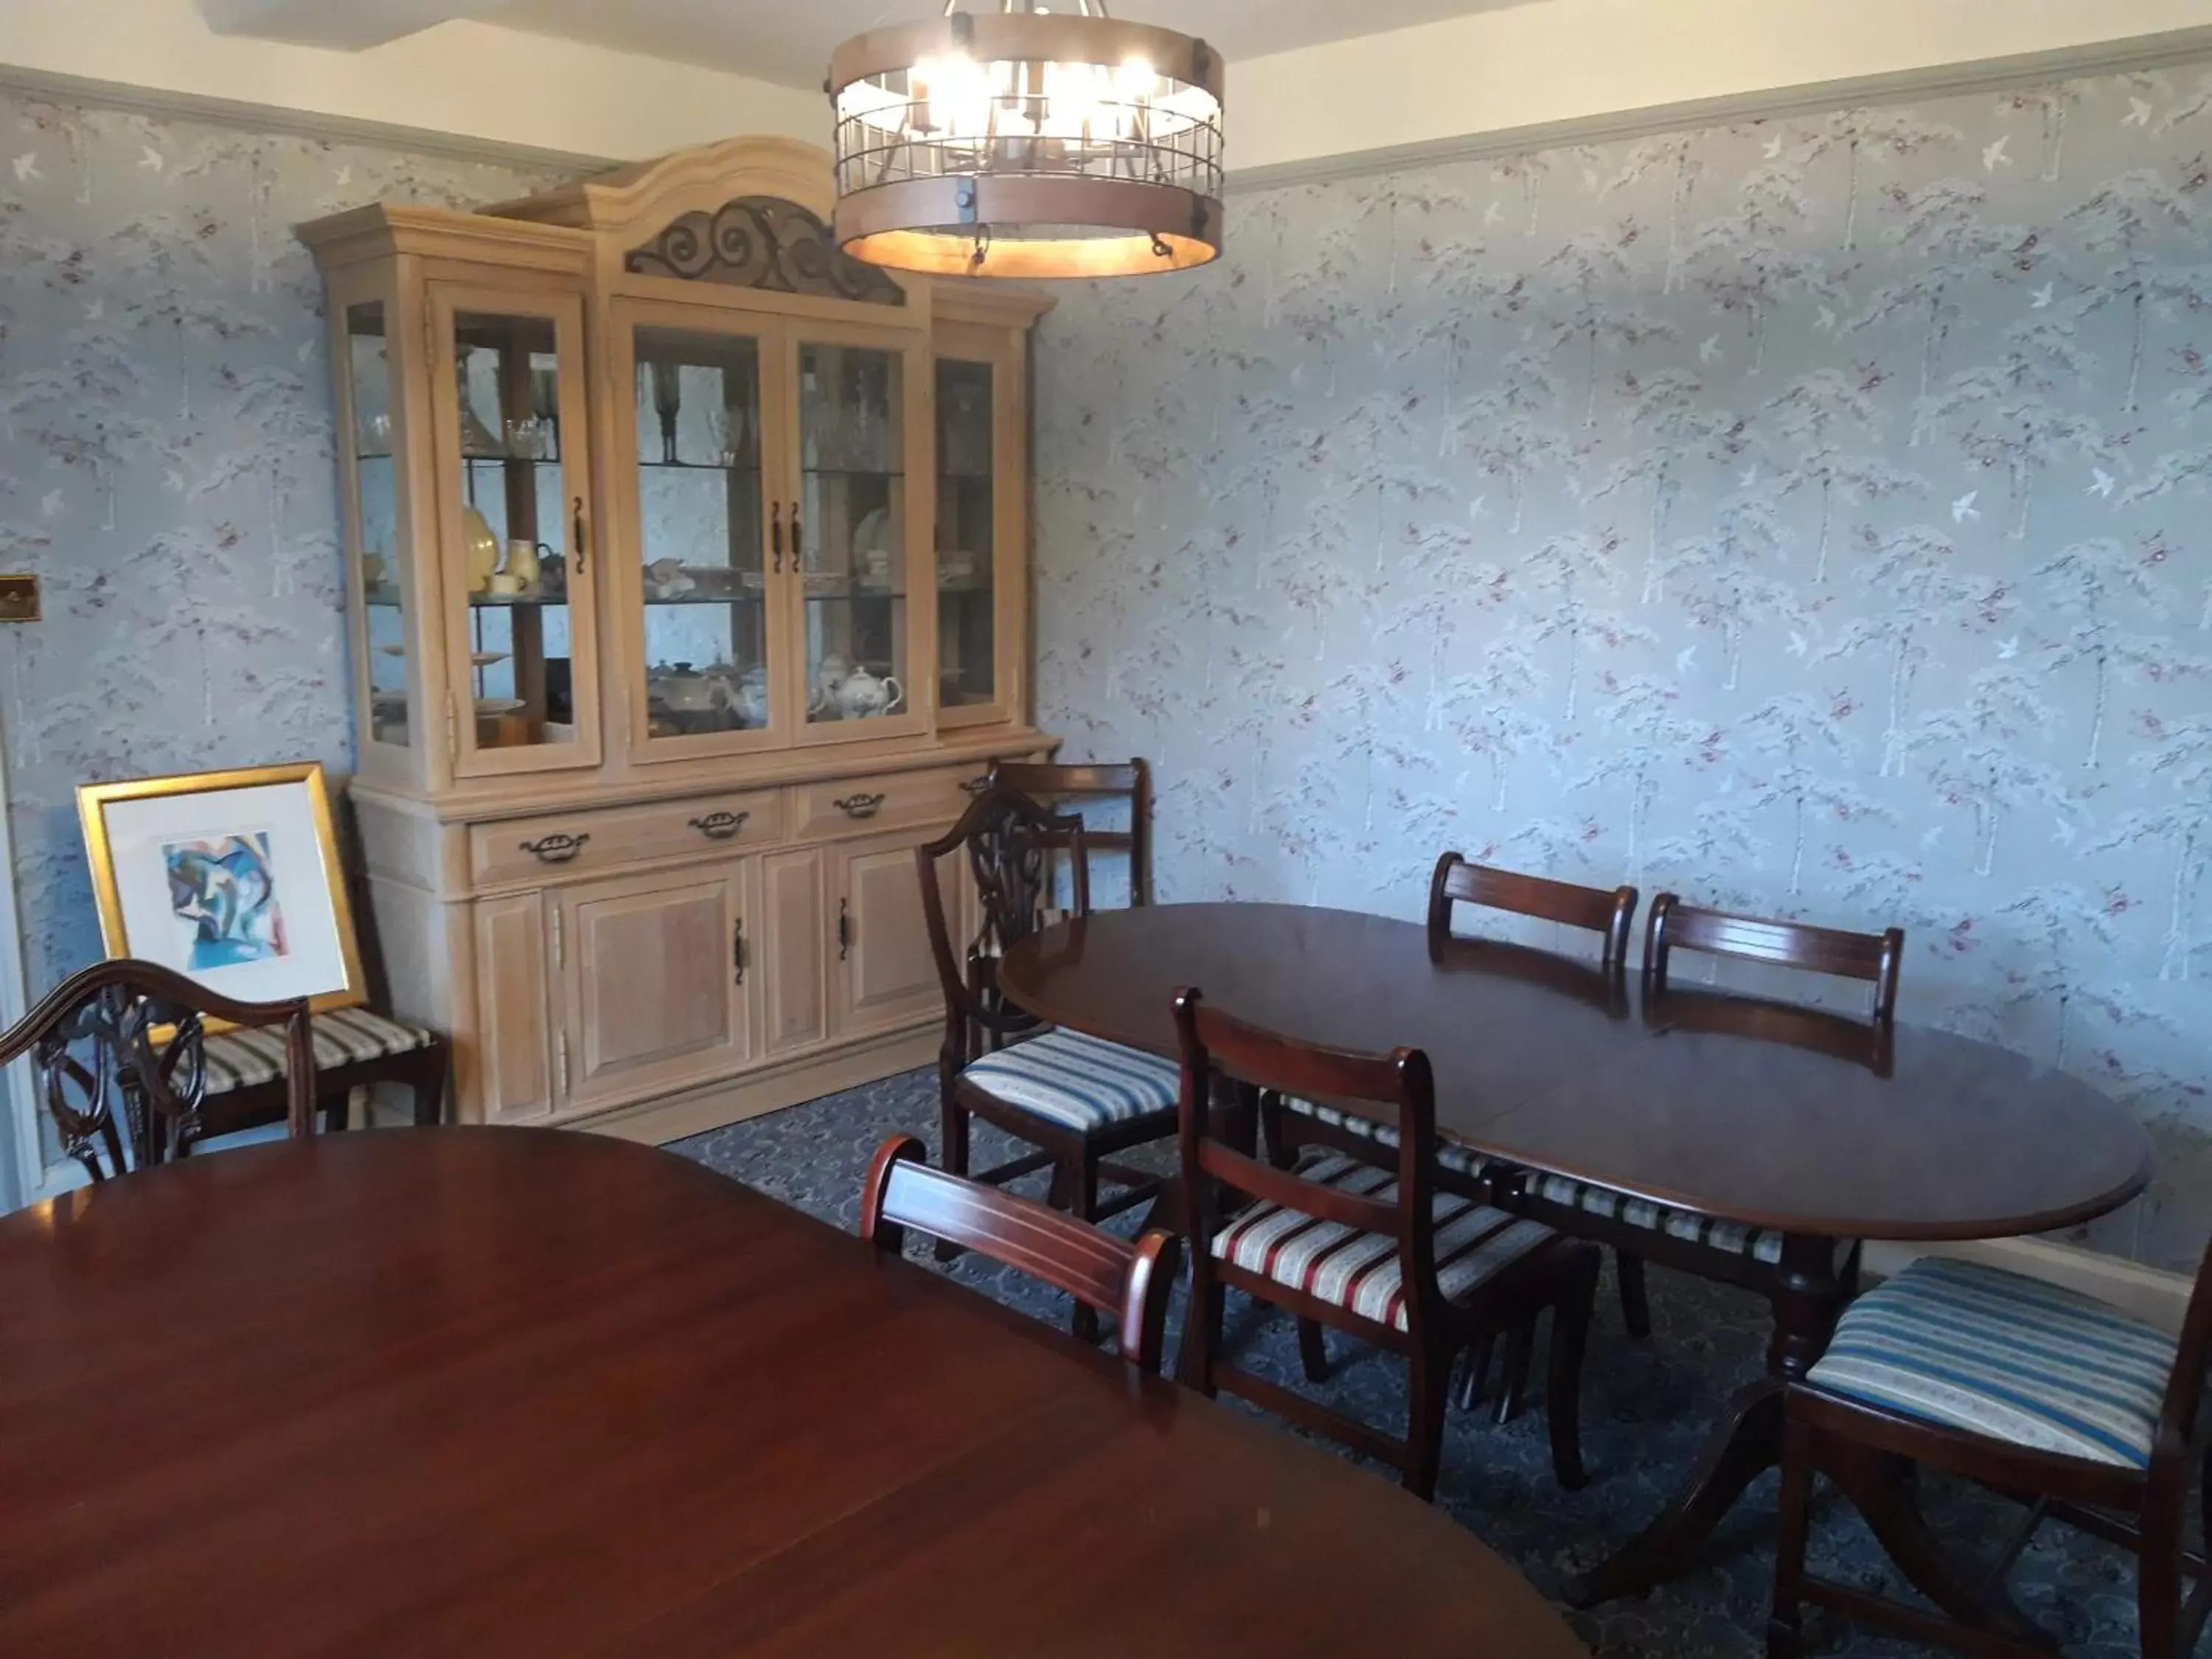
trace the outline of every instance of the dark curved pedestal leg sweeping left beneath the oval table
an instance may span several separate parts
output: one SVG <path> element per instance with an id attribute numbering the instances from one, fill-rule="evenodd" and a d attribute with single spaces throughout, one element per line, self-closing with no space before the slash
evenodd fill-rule
<path id="1" fill-rule="evenodd" d="M 1705 1440 L 1688 1484 L 1659 1520 L 1588 1573 L 1568 1579 L 1568 1606 L 1590 1608 L 1644 1595 L 1688 1571 L 1743 1489 L 1781 1460 L 1783 1389 L 1814 1367 L 1836 1329 L 1836 1314 L 1843 1312 L 1834 1263 L 1829 1239 L 1792 1234 L 1783 1241 L 1783 1276 L 1770 1294 L 1774 1338 L 1767 1343 L 1767 1374 L 1728 1402 L 1728 1416 Z"/>

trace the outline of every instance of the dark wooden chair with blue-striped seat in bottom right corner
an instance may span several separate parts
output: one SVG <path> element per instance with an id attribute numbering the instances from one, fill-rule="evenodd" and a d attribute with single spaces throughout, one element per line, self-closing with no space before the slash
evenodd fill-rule
<path id="1" fill-rule="evenodd" d="M 2212 1577 L 2183 1542 L 2208 1343 L 2212 1250 L 2179 1340 L 2093 1296 L 1947 1256 L 1922 1256 L 1869 1290 L 1785 1391 L 1772 1659 L 1803 1650 L 1807 1601 L 1955 1652 L 2048 1659 L 2048 1635 L 2004 1595 L 2004 1575 L 2046 1517 L 2135 1551 L 2143 1659 L 2192 1652 L 2212 1606 Z M 1995 1559 L 1971 1575 L 1920 1520 L 1911 1473 L 1922 1467 L 2031 1500 Z M 1911 1562 L 1940 1613 L 1882 1599 L 1865 1579 L 1807 1573 L 1816 1475 L 1891 1557 Z"/>

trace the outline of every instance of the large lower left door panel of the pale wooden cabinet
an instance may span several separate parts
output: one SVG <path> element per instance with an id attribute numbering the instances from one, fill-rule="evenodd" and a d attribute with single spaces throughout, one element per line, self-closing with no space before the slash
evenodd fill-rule
<path id="1" fill-rule="evenodd" d="M 633 876 L 562 896 L 568 1104 L 672 1086 L 745 1060 L 743 872 Z"/>

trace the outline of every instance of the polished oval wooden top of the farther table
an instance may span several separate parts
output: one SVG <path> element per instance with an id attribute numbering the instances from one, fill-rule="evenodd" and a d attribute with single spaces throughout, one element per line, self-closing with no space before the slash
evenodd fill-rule
<path id="1" fill-rule="evenodd" d="M 1677 969 L 1681 969 L 1681 960 Z M 1989 1042 L 1670 991 L 1511 945 L 1301 905 L 1097 911 L 1015 945 L 1024 1009 L 1159 1055 L 1199 987 L 1345 1048 L 1425 1048 L 1438 1133 L 1730 1221 L 1838 1239 L 2070 1225 L 2150 1179 L 2150 1137 L 2086 1082 Z M 1911 984 L 1905 987 L 1907 998 Z"/>

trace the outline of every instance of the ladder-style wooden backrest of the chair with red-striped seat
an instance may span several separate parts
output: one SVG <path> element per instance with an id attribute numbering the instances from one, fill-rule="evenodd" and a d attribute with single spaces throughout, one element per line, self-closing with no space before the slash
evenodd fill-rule
<path id="1" fill-rule="evenodd" d="M 1245 1024 L 1208 1006 L 1194 987 L 1175 993 L 1175 1033 L 1183 1057 L 1181 1152 L 1192 1250 L 1203 1252 L 1221 1223 L 1219 1186 L 1248 1192 L 1321 1221 L 1398 1239 L 1407 1325 L 1416 1340 L 1442 1312 L 1436 1285 L 1436 1079 L 1420 1048 L 1387 1055 L 1327 1048 Z M 1369 1106 L 1398 1128 L 1398 1181 L 1389 1197 L 1358 1194 L 1281 1170 L 1214 1133 L 1214 1079 L 1276 1095 Z"/>

